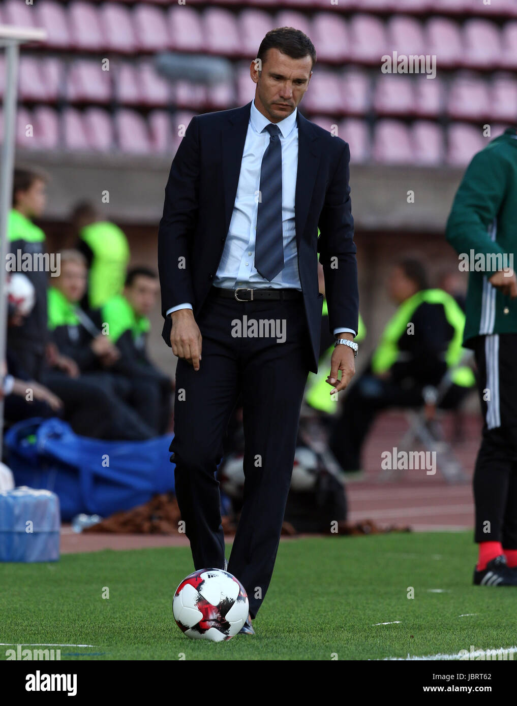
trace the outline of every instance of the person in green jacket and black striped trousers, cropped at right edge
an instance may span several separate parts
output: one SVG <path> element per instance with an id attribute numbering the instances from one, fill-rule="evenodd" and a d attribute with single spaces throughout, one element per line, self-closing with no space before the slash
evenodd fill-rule
<path id="1" fill-rule="evenodd" d="M 475 585 L 517 586 L 517 126 L 477 152 L 446 227 L 469 273 L 463 342 L 484 425 L 473 479 Z"/>

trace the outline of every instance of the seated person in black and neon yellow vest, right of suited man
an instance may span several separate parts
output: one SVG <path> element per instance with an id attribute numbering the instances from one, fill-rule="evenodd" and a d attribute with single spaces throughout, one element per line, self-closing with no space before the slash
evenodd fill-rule
<path id="1" fill-rule="evenodd" d="M 388 321 L 367 369 L 352 385 L 336 419 L 329 446 L 346 472 L 361 469 L 361 448 L 376 414 L 389 407 L 422 407 L 424 388 L 451 370 L 452 385 L 440 403 L 456 407 L 475 384 L 458 366 L 465 314 L 442 289 L 430 289 L 420 261 L 402 258 L 388 281 L 398 309 Z"/>

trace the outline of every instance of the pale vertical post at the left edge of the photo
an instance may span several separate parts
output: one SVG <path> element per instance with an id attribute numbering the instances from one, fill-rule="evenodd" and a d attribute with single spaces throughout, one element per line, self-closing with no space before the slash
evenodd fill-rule
<path id="1" fill-rule="evenodd" d="M 6 91 L 4 95 L 4 141 L 0 163 L 0 364 L 6 359 L 7 297 L 6 253 L 7 224 L 13 189 L 14 147 L 16 142 L 16 95 L 18 92 L 18 41 L 6 42 Z M 0 400 L 0 460 L 4 435 L 4 400 Z"/>

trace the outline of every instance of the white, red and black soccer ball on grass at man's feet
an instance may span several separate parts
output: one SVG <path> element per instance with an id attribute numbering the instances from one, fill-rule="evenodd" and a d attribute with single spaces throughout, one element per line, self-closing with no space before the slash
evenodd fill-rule
<path id="1" fill-rule="evenodd" d="M 179 629 L 195 640 L 230 640 L 249 614 L 244 586 L 222 569 L 200 569 L 187 576 L 172 599 Z"/>

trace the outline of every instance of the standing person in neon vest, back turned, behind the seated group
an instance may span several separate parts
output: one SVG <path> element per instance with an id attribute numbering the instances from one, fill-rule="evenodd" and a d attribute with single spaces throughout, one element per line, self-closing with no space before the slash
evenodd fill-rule
<path id="1" fill-rule="evenodd" d="M 129 244 L 124 232 L 88 201 L 76 205 L 71 221 L 79 237 L 76 249 L 88 263 L 88 298 L 82 304 L 98 309 L 124 289 Z"/>

